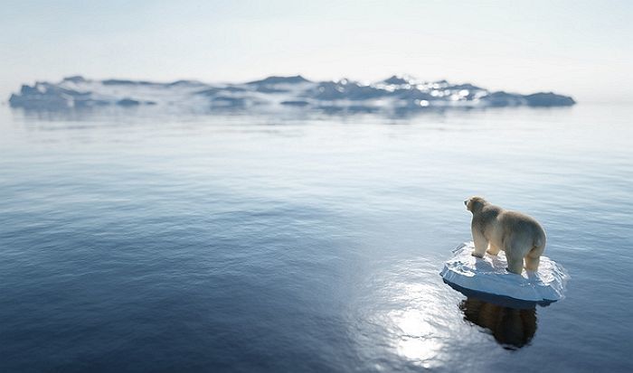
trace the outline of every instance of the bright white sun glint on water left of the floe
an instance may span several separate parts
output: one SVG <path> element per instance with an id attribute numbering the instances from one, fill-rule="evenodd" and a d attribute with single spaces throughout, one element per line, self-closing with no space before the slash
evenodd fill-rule
<path id="1" fill-rule="evenodd" d="M 436 265 L 405 260 L 373 272 L 356 299 L 354 341 L 367 367 L 384 371 L 441 369 L 461 328 L 452 294 L 433 284 Z M 373 369 L 372 368 L 372 369 Z"/>

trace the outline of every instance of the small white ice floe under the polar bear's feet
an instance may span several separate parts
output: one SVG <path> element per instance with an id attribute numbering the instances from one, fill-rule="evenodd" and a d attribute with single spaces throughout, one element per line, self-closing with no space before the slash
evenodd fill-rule
<path id="1" fill-rule="evenodd" d="M 552 303 L 563 298 L 569 275 L 547 256 L 541 256 L 536 272 L 508 272 L 505 253 L 472 256 L 472 242 L 456 247 L 439 273 L 444 282 L 462 293 L 491 294 L 534 303 Z"/>

